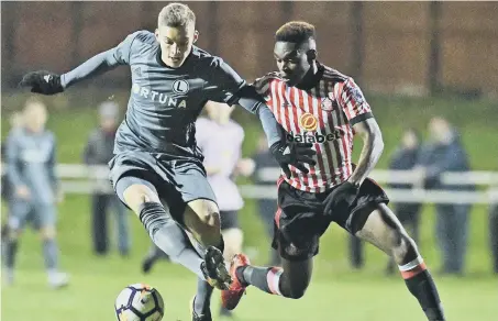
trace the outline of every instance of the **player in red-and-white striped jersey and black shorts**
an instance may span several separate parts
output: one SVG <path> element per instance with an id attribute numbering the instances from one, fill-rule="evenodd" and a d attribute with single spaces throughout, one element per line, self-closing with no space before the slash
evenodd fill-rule
<path id="1" fill-rule="evenodd" d="M 305 174 L 289 166 L 278 181 L 278 210 L 273 246 L 283 267 L 250 265 L 237 254 L 233 283 L 222 291 L 229 310 L 245 288 L 287 298 L 305 295 L 311 279 L 319 239 L 331 222 L 394 257 L 409 291 L 428 320 L 445 320 L 431 274 L 396 215 L 388 197 L 367 176 L 384 148 L 380 129 L 362 90 L 347 77 L 317 60 L 314 26 L 288 22 L 276 32 L 278 73 L 255 81 L 289 142 L 311 143 L 316 164 Z M 352 163 L 353 136 L 363 139 L 357 165 Z M 287 171 L 287 173 L 286 173 Z"/>

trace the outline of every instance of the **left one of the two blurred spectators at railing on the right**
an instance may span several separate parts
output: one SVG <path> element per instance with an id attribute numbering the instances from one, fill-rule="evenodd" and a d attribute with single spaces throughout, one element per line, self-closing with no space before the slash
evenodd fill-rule
<path id="1" fill-rule="evenodd" d="M 414 129 L 408 129 L 401 139 L 401 145 L 396 151 L 390 159 L 389 169 L 391 170 L 411 170 L 417 165 L 420 154 L 420 134 Z M 412 189 L 412 184 L 390 184 L 392 189 Z M 411 237 L 417 244 L 419 243 L 419 225 L 420 225 L 420 202 L 397 202 L 395 204 L 395 213 L 399 221 L 407 230 L 411 230 Z M 392 274 L 396 270 L 395 262 L 390 258 L 387 265 L 387 273 Z"/>

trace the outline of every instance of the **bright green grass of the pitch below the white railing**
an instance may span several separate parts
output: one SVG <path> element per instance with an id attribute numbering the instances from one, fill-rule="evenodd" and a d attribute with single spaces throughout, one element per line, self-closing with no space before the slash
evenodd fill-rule
<path id="1" fill-rule="evenodd" d="M 164 296 L 165 320 L 189 320 L 188 302 L 196 289 L 193 276 L 166 262 L 159 263 L 151 275 L 142 275 L 140 263 L 148 248 L 148 239 L 132 214 L 131 256 L 121 258 L 113 253 L 104 258 L 95 257 L 90 250 L 89 212 L 88 198 L 79 196 L 69 196 L 59 209 L 62 266 L 71 274 L 71 285 L 66 289 L 47 288 L 37 235 L 26 231 L 19 253 L 16 283 L 13 287 L 2 287 L 1 320 L 114 320 L 112 305 L 118 292 L 128 284 L 142 281 L 157 287 Z M 474 209 L 468 276 L 436 277 L 449 320 L 491 321 L 498 316 L 498 287 L 490 273 L 484 213 L 484 208 Z M 257 248 L 252 258 L 263 264 L 268 241 L 261 237 L 262 226 L 255 218 L 253 202 L 247 203 L 241 217 L 247 228 L 246 247 Z M 439 253 L 433 246 L 431 208 L 424 218 L 420 245 L 429 266 L 436 270 Z M 346 234 L 335 226 L 324 235 L 316 274 L 305 298 L 287 300 L 251 288 L 236 310 L 237 320 L 424 320 L 401 278 L 384 276 L 385 257 L 373 246 L 366 248 L 363 270 L 348 268 L 346 240 Z M 215 307 L 218 298 L 213 301 Z"/>

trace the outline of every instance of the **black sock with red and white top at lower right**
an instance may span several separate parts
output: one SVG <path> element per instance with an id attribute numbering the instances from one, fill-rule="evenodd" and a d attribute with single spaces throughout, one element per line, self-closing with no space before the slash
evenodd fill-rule
<path id="1" fill-rule="evenodd" d="M 443 307 L 431 274 L 422 257 L 399 266 L 401 276 L 413 297 L 419 300 L 423 312 L 430 321 L 444 321 Z"/>

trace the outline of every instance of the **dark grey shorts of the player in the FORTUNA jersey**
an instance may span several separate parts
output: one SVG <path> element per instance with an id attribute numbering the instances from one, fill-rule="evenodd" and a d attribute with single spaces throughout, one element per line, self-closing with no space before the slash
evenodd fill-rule
<path id="1" fill-rule="evenodd" d="M 171 217 L 182 224 L 185 207 L 196 199 L 215 202 L 214 192 L 200 160 L 178 160 L 165 154 L 124 152 L 109 162 L 109 179 L 124 203 L 123 191 L 133 184 L 155 189 Z"/>

